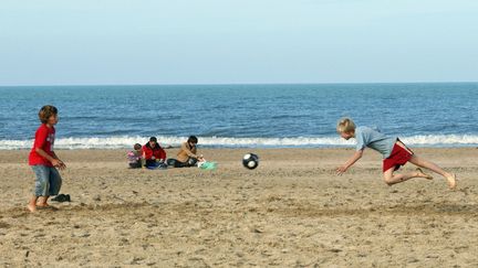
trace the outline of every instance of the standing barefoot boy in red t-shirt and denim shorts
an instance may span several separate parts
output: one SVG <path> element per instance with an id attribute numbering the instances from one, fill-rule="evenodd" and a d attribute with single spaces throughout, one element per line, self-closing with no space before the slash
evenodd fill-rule
<path id="1" fill-rule="evenodd" d="M 37 129 L 33 148 L 29 154 L 29 164 L 37 176 L 33 196 L 27 206 L 30 212 L 35 212 L 37 207 L 49 206 L 48 199 L 58 195 L 62 184 L 56 168 L 66 168 L 53 151 L 54 125 L 59 121 L 56 107 L 43 106 L 39 111 L 39 118 L 42 125 Z"/>

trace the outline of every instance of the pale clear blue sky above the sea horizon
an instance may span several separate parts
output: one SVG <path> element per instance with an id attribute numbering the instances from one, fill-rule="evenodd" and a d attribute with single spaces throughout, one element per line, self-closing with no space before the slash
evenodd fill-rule
<path id="1" fill-rule="evenodd" d="M 0 85 L 477 82 L 477 0 L 0 0 Z"/>

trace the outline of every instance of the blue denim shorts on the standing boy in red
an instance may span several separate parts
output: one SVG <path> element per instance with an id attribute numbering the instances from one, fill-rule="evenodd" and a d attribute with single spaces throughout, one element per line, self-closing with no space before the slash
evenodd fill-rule
<path id="1" fill-rule="evenodd" d="M 31 165 L 37 175 L 33 194 L 35 196 L 58 195 L 61 189 L 62 179 L 58 170 L 46 165 Z"/>

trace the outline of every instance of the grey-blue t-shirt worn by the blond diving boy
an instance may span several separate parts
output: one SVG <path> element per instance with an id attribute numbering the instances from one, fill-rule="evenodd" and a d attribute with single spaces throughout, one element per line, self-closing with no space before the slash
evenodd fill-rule
<path id="1" fill-rule="evenodd" d="M 368 127 L 357 127 L 355 129 L 356 150 L 360 151 L 365 147 L 372 148 L 388 158 L 397 137 L 387 137 Z"/>

